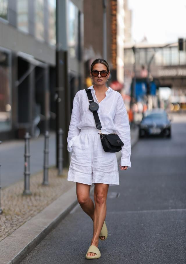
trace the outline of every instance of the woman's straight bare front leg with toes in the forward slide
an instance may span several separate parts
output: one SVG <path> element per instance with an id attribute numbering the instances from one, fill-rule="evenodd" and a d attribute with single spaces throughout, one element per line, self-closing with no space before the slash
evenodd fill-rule
<path id="1" fill-rule="evenodd" d="M 108 194 L 108 184 L 104 183 L 95 183 L 94 187 L 94 232 L 91 241 L 91 245 L 98 246 L 99 234 L 103 227 L 103 223 L 106 217 L 106 200 Z M 88 253 L 87 256 L 94 256 L 95 253 Z"/>

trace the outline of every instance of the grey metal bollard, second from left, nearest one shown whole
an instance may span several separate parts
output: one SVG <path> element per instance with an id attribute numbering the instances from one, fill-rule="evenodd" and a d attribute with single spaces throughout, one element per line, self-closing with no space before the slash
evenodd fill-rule
<path id="1" fill-rule="evenodd" d="M 28 132 L 25 136 L 25 148 L 24 148 L 24 191 L 23 195 L 31 195 L 30 191 L 30 138 Z"/>

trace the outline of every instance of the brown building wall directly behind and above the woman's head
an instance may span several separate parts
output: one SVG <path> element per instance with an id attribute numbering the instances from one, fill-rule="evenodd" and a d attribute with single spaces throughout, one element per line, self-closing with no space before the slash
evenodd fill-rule
<path id="1" fill-rule="evenodd" d="M 103 1 L 84 1 L 84 61 L 85 76 L 89 76 L 90 65 L 94 59 L 103 58 Z M 112 69 L 112 31 L 111 31 L 111 0 L 107 1 L 106 7 L 106 60 Z"/>

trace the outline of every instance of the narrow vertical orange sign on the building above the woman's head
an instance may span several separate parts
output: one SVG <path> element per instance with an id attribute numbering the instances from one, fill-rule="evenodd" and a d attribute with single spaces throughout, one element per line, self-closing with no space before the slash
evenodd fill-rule
<path id="1" fill-rule="evenodd" d="M 111 0 L 111 57 L 112 68 L 117 68 L 117 0 Z"/>

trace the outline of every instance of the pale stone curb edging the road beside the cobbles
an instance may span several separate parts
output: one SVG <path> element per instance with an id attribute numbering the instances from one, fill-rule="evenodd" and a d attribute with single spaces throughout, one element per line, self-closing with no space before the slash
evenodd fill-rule
<path id="1" fill-rule="evenodd" d="M 131 147 L 138 140 L 138 129 L 133 132 Z M 77 204 L 74 186 L 0 242 L 0 264 L 20 263 Z"/>

